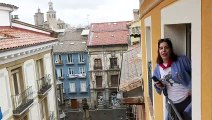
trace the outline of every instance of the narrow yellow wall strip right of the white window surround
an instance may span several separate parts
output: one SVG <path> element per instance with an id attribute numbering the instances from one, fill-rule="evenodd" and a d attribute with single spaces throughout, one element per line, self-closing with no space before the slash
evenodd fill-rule
<path id="1" fill-rule="evenodd" d="M 202 120 L 212 120 L 212 1 L 202 0 Z"/>

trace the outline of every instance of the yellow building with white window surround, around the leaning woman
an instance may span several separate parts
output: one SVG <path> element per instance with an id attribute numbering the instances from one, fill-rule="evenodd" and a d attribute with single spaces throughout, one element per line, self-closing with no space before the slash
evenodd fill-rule
<path id="1" fill-rule="evenodd" d="M 165 119 L 165 97 L 153 87 L 157 42 L 171 38 L 178 55 L 192 61 L 192 119 L 212 119 L 212 1 L 140 0 L 142 75 L 146 120 Z"/>

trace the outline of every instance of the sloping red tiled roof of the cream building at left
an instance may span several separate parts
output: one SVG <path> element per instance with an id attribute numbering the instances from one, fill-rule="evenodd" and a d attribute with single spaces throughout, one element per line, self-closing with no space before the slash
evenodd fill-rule
<path id="1" fill-rule="evenodd" d="M 17 27 L 0 27 L 0 50 L 27 47 L 57 40 L 47 34 Z"/>

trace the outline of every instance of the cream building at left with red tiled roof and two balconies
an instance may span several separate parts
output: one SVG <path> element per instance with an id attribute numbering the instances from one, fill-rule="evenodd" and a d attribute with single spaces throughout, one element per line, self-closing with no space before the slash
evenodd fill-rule
<path id="1" fill-rule="evenodd" d="M 55 120 L 58 116 L 51 51 L 57 39 L 33 25 L 13 23 L 10 13 L 17 8 L 0 3 L 2 119 Z"/>

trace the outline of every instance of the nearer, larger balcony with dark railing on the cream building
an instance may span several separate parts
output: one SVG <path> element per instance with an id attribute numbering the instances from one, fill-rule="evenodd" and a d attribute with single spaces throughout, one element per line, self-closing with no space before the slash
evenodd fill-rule
<path id="1" fill-rule="evenodd" d="M 32 87 L 27 87 L 22 93 L 12 95 L 13 115 L 22 115 L 33 104 Z"/>

